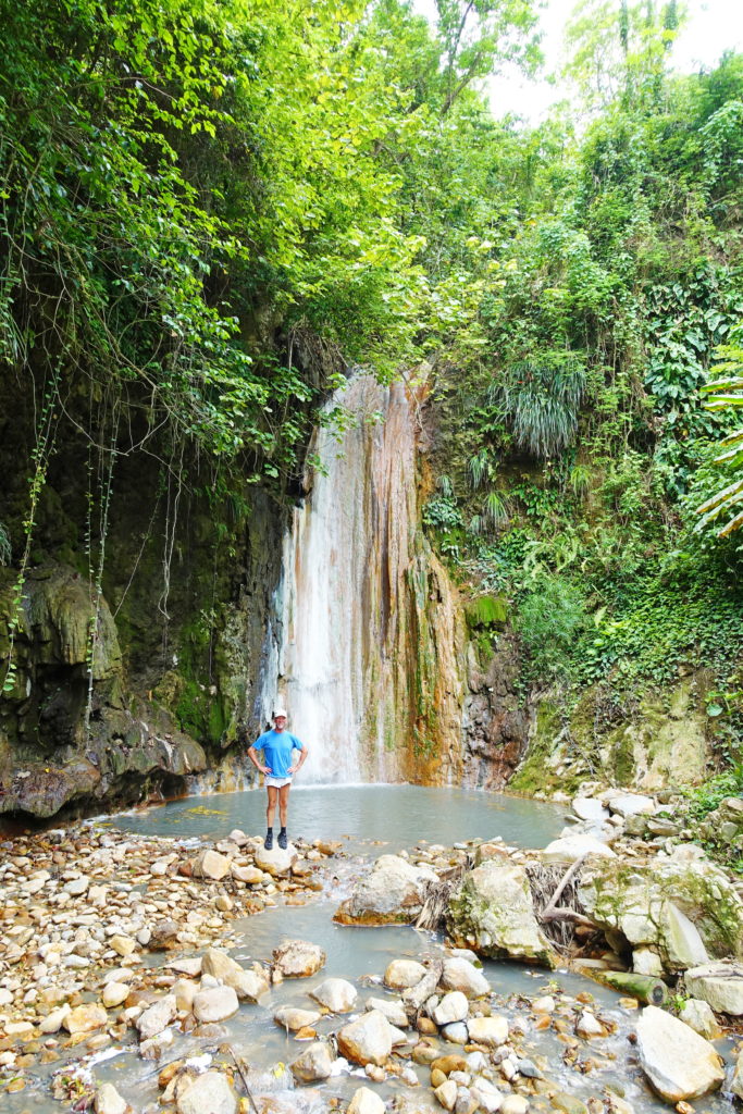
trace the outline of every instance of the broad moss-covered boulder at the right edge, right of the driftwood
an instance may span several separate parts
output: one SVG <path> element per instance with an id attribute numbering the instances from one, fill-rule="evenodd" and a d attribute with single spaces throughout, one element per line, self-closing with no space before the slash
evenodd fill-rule
<path id="1" fill-rule="evenodd" d="M 705 859 L 593 859 L 578 893 L 592 920 L 622 934 L 634 949 L 652 948 L 667 971 L 683 971 L 707 955 L 743 956 L 743 902 Z"/>

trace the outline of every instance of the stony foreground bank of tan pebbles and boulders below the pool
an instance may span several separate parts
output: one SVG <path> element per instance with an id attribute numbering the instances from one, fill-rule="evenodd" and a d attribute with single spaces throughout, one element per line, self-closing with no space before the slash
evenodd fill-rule
<path id="1" fill-rule="evenodd" d="M 238 830 L 184 841 L 92 823 L 8 839 L 0 1094 L 18 1096 L 13 1110 L 43 1094 L 99 1114 L 632 1114 L 622 1086 L 597 1082 L 585 1101 L 566 1087 L 566 1069 L 586 1076 L 618 1061 L 618 1078 L 644 1077 L 648 1102 L 653 1093 L 680 1114 L 721 1087 L 743 1097 L 743 1056 L 726 1076 L 712 1043 L 743 1016 L 740 883 L 683 830 L 635 834 L 632 818 L 658 807 L 616 791 L 583 797 L 541 851 L 500 839 L 419 843 L 361 871 L 341 843 L 266 852 Z M 344 897 L 338 879 L 352 871 Z M 272 1006 L 285 979 L 321 975 L 326 956 L 292 939 L 243 966 L 229 955 L 236 922 L 283 903 L 291 931 L 291 906 L 331 896 L 336 922 L 441 927 L 447 944 L 393 959 L 371 981 L 327 977 L 307 984 L 302 1005 Z M 545 985 L 506 1008 L 480 957 L 542 966 Z M 636 1018 L 624 1053 L 613 1044 L 616 1009 L 551 980 L 548 970 L 568 962 L 634 980 L 620 985 L 636 993 L 616 999 L 625 1020 Z M 673 1008 L 644 1006 L 648 984 L 668 987 Z M 225 1023 L 256 1008 L 291 1035 L 289 1066 L 273 1075 L 228 1039 Z M 558 1042 L 557 1062 L 535 1051 L 538 1035 Z M 208 1051 L 180 1052 L 185 1038 Z M 153 1063 L 157 1100 L 133 1107 L 96 1081 L 96 1057 L 123 1047 Z M 351 1095 L 329 1084 L 353 1074 L 362 1078 Z"/>

